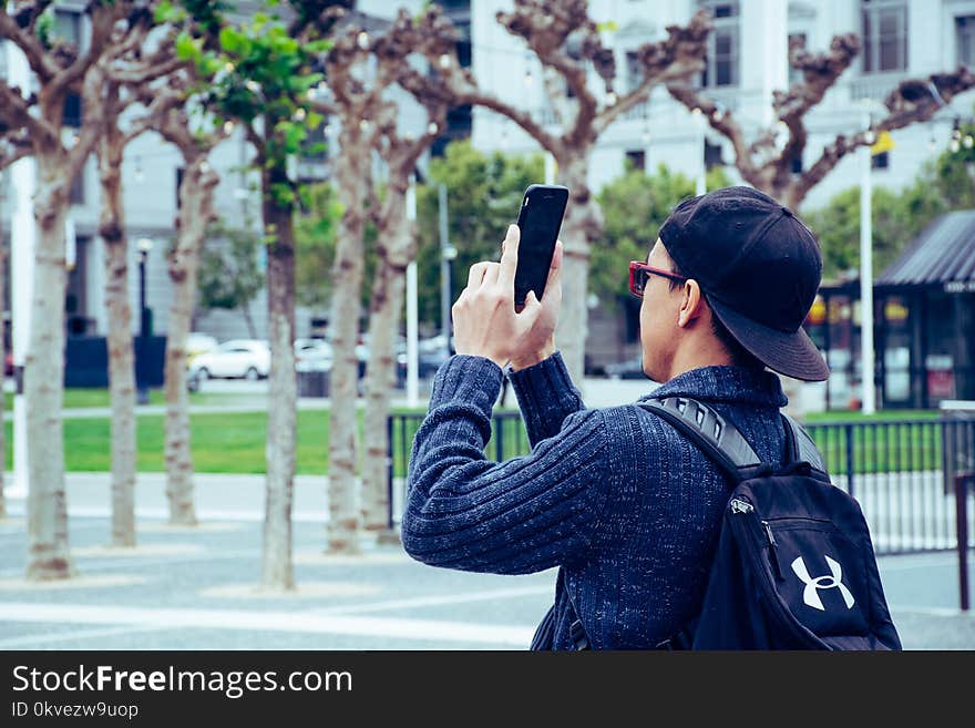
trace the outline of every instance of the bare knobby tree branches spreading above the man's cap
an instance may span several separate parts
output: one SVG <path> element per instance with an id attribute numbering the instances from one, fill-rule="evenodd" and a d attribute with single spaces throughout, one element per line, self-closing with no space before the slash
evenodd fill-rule
<path id="1" fill-rule="evenodd" d="M 865 144 L 875 134 L 903 129 L 930 120 L 959 93 L 975 88 L 975 74 L 966 68 L 951 73 L 934 73 L 923 79 L 901 81 L 886 98 L 887 114 L 871 130 L 856 129 L 838 134 L 801 174 L 792 172 L 792 162 L 801 158 L 809 142 L 805 116 L 832 89 L 860 52 L 860 40 L 852 33 L 837 35 L 830 50 L 812 53 L 799 44 L 789 50 L 790 65 L 802 78 L 788 91 L 776 91 L 772 109 L 776 122 L 749 143 L 731 111 L 708 98 L 707 91 L 689 81 L 667 84 L 670 94 L 688 110 L 698 109 L 711 129 L 725 136 L 735 154 L 735 166 L 753 187 L 792 208 L 798 208 L 812 187 L 822 182 L 844 156 Z"/>

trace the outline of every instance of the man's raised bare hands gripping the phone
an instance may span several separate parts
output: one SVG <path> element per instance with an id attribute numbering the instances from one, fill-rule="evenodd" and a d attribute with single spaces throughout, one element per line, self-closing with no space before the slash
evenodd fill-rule
<path id="1" fill-rule="evenodd" d="M 509 226 L 501 263 L 472 265 L 468 287 L 451 309 L 455 351 L 486 357 L 502 368 L 509 361 L 516 368 L 531 366 L 555 350 L 555 325 L 562 307 L 562 240 L 556 240 L 542 300 L 534 290 L 528 291 L 525 305 L 515 310 L 520 237 L 517 225 Z"/>

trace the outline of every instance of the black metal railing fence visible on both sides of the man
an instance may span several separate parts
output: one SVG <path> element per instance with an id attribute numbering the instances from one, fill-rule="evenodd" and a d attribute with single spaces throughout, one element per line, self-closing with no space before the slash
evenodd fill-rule
<path id="1" fill-rule="evenodd" d="M 390 526 L 402 513 L 407 463 L 423 417 L 393 414 L 389 419 Z M 965 502 L 959 503 L 955 479 L 975 470 L 975 416 L 814 423 L 807 430 L 833 483 L 860 502 L 878 554 L 955 550 L 958 515 L 965 516 L 966 541 L 973 545 L 975 494 L 972 489 L 958 491 L 965 493 Z M 530 451 L 521 413 L 495 412 L 485 457 L 502 461 Z"/>

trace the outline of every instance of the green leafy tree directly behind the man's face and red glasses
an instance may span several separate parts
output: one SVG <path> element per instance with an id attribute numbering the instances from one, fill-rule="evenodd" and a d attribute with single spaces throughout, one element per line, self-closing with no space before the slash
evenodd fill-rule
<path id="1" fill-rule="evenodd" d="M 708 189 L 729 184 L 720 167 L 708 173 Z M 647 257 L 667 215 L 681 199 L 694 196 L 694 180 L 663 164 L 653 175 L 628 167 L 605 185 L 598 195 L 603 236 L 593 246 L 589 293 L 606 303 L 626 298 L 629 262 Z"/>

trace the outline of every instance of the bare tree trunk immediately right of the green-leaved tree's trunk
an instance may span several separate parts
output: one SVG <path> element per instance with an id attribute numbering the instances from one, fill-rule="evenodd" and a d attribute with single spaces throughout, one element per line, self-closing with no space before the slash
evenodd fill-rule
<path id="1" fill-rule="evenodd" d="M 343 124 L 336 188 L 345 207 L 332 266 L 332 369 L 328 457 L 328 551 L 358 553 L 356 493 L 359 301 L 362 288 L 363 206 L 369 192 L 369 145 L 358 124 Z M 365 152 L 363 152 L 365 150 Z M 373 346 L 378 344 L 373 342 Z M 384 425 L 383 425 L 384 427 Z"/>

